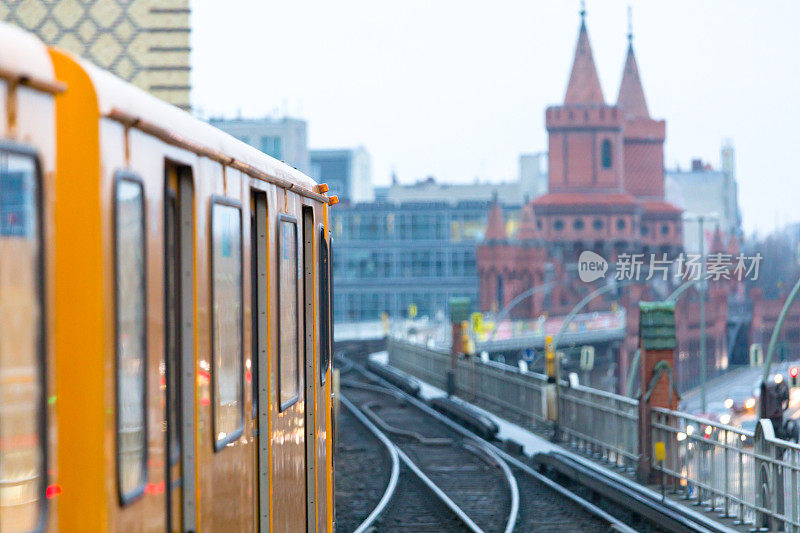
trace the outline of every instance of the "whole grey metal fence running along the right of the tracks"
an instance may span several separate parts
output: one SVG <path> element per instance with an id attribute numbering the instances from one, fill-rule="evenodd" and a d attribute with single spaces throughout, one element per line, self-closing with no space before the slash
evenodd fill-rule
<path id="1" fill-rule="evenodd" d="M 444 389 L 451 356 L 389 339 L 390 363 Z M 481 399 L 501 416 L 549 427 L 546 378 L 494 362 L 457 360 L 458 395 Z M 638 400 L 583 386 L 559 388 L 559 437 L 578 452 L 632 472 L 640 460 Z M 761 531 L 800 533 L 800 445 L 775 438 L 762 421 L 755 433 L 660 407 L 650 410 L 652 442 L 666 459 L 652 466 L 676 497 Z"/>

